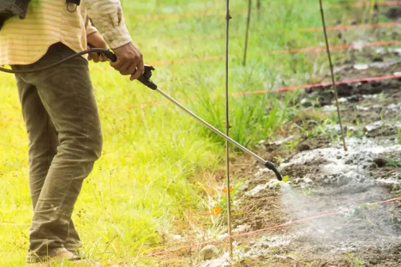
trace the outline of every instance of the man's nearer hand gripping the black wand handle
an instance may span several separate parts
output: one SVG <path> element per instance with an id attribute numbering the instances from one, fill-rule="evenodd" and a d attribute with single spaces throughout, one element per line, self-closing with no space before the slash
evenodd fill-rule
<path id="1" fill-rule="evenodd" d="M 113 51 L 117 56 L 117 61 L 111 62 L 110 65 L 122 75 L 131 75 L 131 81 L 138 79 L 144 71 L 142 53 L 132 43 L 113 49 Z"/>

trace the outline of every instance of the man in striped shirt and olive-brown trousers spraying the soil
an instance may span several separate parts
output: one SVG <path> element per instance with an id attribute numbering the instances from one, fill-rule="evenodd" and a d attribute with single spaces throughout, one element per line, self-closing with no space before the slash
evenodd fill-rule
<path id="1" fill-rule="evenodd" d="M 92 20 L 96 28 L 88 21 Z M 33 70 L 87 48 L 110 47 L 122 75 L 143 72 L 119 0 L 32 0 L 24 20 L 10 18 L 0 30 L 0 65 Z M 97 54 L 89 59 L 104 61 Z M 135 72 L 135 70 L 137 70 Z M 133 75 L 133 73 L 135 74 Z M 47 266 L 67 258 L 79 262 L 82 246 L 71 220 L 83 180 L 101 156 L 101 125 L 83 56 L 52 69 L 15 74 L 29 139 L 29 186 L 34 214 L 27 261 Z"/>

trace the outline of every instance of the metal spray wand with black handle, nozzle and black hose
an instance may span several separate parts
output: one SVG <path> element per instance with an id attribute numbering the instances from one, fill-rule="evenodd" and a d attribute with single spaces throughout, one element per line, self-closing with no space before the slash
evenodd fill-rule
<path id="1" fill-rule="evenodd" d="M 92 47 L 92 46 L 91 46 Z M 104 54 L 108 59 L 110 59 L 112 62 L 116 62 L 117 61 L 117 56 L 111 52 L 110 50 L 105 50 L 105 49 L 101 49 L 101 48 L 90 48 L 81 52 L 78 52 L 74 55 L 68 56 L 68 58 L 65 58 L 59 62 L 50 64 L 46 67 L 42 67 L 42 68 L 38 68 L 35 70 L 10 70 L 10 69 L 6 69 L 6 68 L 1 68 L 0 67 L 0 71 L 3 72 L 7 72 L 7 73 L 33 73 L 33 72 L 39 72 L 39 71 L 44 71 L 46 69 L 50 69 L 53 68 L 55 66 L 58 66 L 64 62 L 66 62 L 67 60 L 70 60 L 71 58 L 75 58 L 77 56 L 81 56 L 83 54 L 87 54 L 87 53 L 92 53 L 92 52 L 97 52 L 97 53 L 102 53 Z M 220 130 L 216 129 L 215 127 L 213 127 L 211 124 L 209 124 L 208 122 L 206 122 L 205 120 L 203 120 L 202 118 L 200 118 L 199 116 L 197 116 L 195 113 L 193 113 L 191 110 L 189 110 L 188 108 L 186 108 L 185 106 L 181 105 L 178 101 L 176 101 L 175 99 L 173 99 L 172 97 L 170 97 L 167 93 L 163 92 L 161 89 L 158 88 L 158 86 L 152 82 L 150 80 L 150 78 L 152 77 L 152 71 L 155 70 L 155 68 L 153 66 L 150 65 L 144 65 L 144 71 L 143 73 L 140 75 L 140 77 L 137 79 L 140 83 L 142 83 L 143 85 L 149 87 L 152 90 L 157 91 L 158 93 L 160 93 L 163 97 L 167 98 L 168 100 L 170 100 L 171 102 L 173 102 L 175 105 L 177 105 L 178 107 L 180 107 L 181 109 L 183 109 L 185 112 L 187 112 L 189 115 L 191 115 L 192 117 L 194 117 L 196 120 L 198 120 L 199 122 L 203 123 L 205 126 L 207 126 L 209 129 L 211 129 L 212 131 L 214 131 L 215 133 L 217 133 L 217 135 L 220 135 L 221 137 L 223 137 L 224 139 L 226 139 L 228 142 L 232 143 L 233 145 L 235 145 L 236 147 L 240 148 L 241 150 L 243 150 L 244 152 L 246 152 L 247 154 L 249 154 L 250 156 L 256 158 L 260 163 L 262 163 L 266 168 L 268 168 L 269 170 L 273 171 L 277 177 L 277 179 L 279 181 L 282 181 L 282 176 L 279 173 L 279 171 L 277 170 L 277 168 L 275 167 L 275 165 L 267 160 L 264 160 L 263 158 L 259 157 L 258 155 L 254 154 L 254 152 L 250 151 L 249 149 L 247 149 L 246 147 L 244 147 L 243 145 L 241 145 L 240 143 L 236 142 L 235 140 L 231 139 L 230 137 L 228 137 L 227 135 L 225 135 L 223 132 L 221 132 Z"/>

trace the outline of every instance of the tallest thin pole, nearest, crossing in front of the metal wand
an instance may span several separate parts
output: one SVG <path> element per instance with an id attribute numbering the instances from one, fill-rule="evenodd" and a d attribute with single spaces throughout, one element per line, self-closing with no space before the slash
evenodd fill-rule
<path id="1" fill-rule="evenodd" d="M 226 0 L 226 135 L 229 136 L 230 123 L 228 120 L 228 26 L 230 21 L 229 0 Z M 230 163 L 229 163 L 229 143 L 226 139 L 226 168 L 227 168 L 227 224 L 228 235 L 231 236 L 231 198 L 230 198 Z M 230 257 L 232 257 L 232 238 L 229 238 Z"/>

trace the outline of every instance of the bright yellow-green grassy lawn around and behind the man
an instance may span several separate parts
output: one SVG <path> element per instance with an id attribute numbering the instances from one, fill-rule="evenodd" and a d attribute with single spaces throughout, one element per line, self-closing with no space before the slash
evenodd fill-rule
<path id="1" fill-rule="evenodd" d="M 325 8 L 340 1 L 324 1 Z M 225 2 L 122 1 L 134 43 L 147 63 L 155 63 L 153 81 L 174 98 L 198 98 L 185 105 L 224 130 L 224 59 L 160 64 L 225 53 Z M 269 89 L 311 82 L 327 70 L 326 55 L 269 54 L 272 50 L 324 45 L 318 1 L 263 1 L 262 16 L 253 3 L 247 65 L 242 66 L 247 1 L 231 1 L 229 89 Z M 360 10 L 360 9 L 359 9 Z M 352 10 L 350 10 L 352 12 Z M 168 14 L 182 13 L 185 16 Z M 217 15 L 213 15 L 217 14 Z M 334 25 L 344 10 L 326 11 Z M 380 18 L 382 20 L 382 18 Z M 343 21 L 347 23 L 347 21 Z M 367 31 L 367 30 L 363 30 Z M 361 34 L 360 30 L 357 34 Z M 332 33 L 329 33 L 332 34 Z M 204 39 L 189 36 L 208 35 Z M 209 36 L 211 35 L 211 36 Z M 384 40 L 384 38 L 381 38 Z M 335 45 L 333 41 L 331 43 Z M 340 52 L 333 52 L 334 60 Z M 165 246 L 175 234 L 206 233 L 215 238 L 224 225 L 208 215 L 223 180 L 213 171 L 224 164 L 224 140 L 138 82 L 121 77 L 108 64 L 90 64 L 104 134 L 103 156 L 87 178 L 73 219 L 89 254 L 133 258 Z M 0 73 L 0 262 L 21 266 L 28 247 L 32 208 L 27 169 L 27 135 L 14 78 Z M 269 94 L 230 98 L 230 135 L 251 147 L 271 136 L 297 112 L 289 101 Z M 266 107 L 270 112 L 266 115 Z M 235 182 L 241 177 L 235 177 Z M 188 214 L 191 216 L 188 217 Z M 225 219 L 220 215 L 220 222 Z M 208 229 L 215 231 L 207 231 Z"/>

